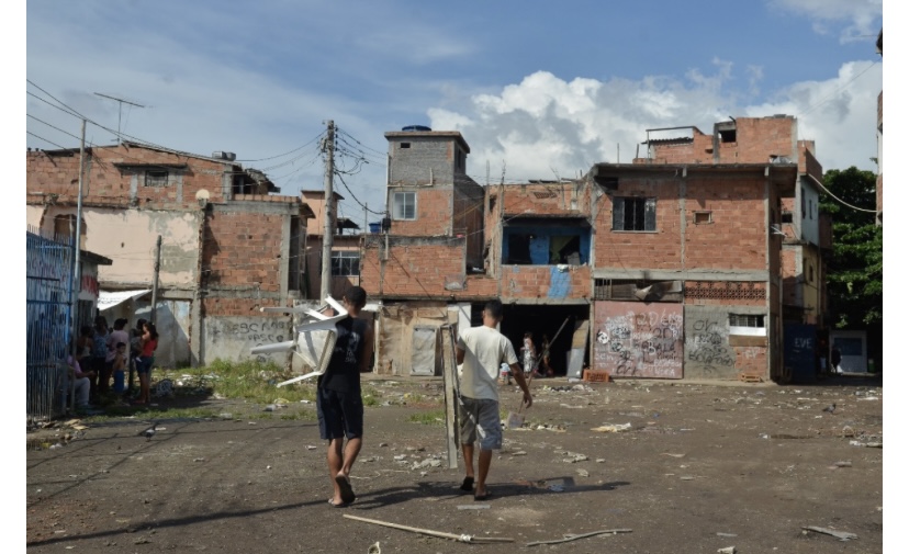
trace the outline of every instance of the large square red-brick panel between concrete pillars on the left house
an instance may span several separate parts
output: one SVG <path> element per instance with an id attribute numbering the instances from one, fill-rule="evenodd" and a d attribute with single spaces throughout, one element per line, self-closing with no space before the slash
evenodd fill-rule
<path id="1" fill-rule="evenodd" d="M 282 215 L 214 212 L 206 216 L 202 251 L 204 286 L 280 292 Z"/>

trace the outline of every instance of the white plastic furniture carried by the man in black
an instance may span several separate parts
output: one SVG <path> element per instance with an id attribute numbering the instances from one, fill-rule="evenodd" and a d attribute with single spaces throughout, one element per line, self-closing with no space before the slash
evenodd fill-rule
<path id="1" fill-rule="evenodd" d="M 298 381 L 322 375 L 328 369 L 328 362 L 332 360 L 332 351 L 335 349 L 335 342 L 337 341 L 335 324 L 347 317 L 347 310 L 330 296 L 326 296 L 325 302 L 327 305 L 318 312 L 302 307 L 261 308 L 262 312 L 270 313 L 306 314 L 311 318 L 294 327 L 295 337 L 293 340 L 262 344 L 250 351 L 252 354 L 293 352 L 294 355 L 300 358 L 304 371 L 310 370 L 303 375 L 298 375 L 283 383 L 278 383 L 278 386 L 290 385 Z M 326 316 L 321 313 L 329 306 L 335 310 L 334 316 Z"/>

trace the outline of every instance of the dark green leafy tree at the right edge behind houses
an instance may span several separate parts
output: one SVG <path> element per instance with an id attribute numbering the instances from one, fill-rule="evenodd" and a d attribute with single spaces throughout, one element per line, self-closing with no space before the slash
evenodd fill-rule
<path id="1" fill-rule="evenodd" d="M 833 218 L 827 265 L 833 326 L 878 327 L 884 321 L 884 228 L 875 224 L 876 176 L 853 166 L 828 171 L 823 182 L 820 207 Z"/>

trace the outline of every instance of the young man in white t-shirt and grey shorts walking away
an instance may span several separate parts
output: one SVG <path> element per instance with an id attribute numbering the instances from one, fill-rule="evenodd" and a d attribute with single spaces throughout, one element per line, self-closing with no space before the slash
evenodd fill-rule
<path id="1" fill-rule="evenodd" d="M 465 329 L 458 337 L 456 349 L 460 377 L 460 439 L 464 456 L 465 476 L 461 490 L 473 489 L 473 443 L 480 440 L 476 489 L 474 500 L 485 500 L 486 476 L 492 463 L 492 451 L 502 448 L 502 420 L 498 416 L 498 371 L 507 363 L 512 376 L 524 391 L 524 403 L 534 404 L 524 372 L 518 365 L 515 348 L 496 327 L 502 321 L 502 302 L 494 299 L 483 308 L 483 325 Z"/>

